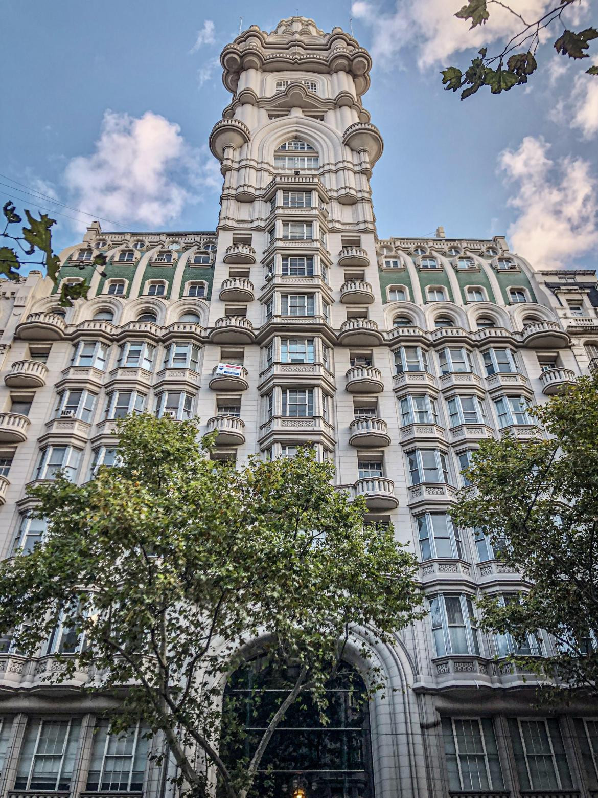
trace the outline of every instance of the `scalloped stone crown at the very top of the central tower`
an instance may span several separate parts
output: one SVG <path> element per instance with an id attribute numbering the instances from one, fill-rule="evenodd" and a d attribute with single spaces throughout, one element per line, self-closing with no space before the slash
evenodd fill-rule
<path id="1" fill-rule="evenodd" d="M 313 19 L 282 19 L 267 33 L 252 25 L 222 50 L 222 81 L 231 93 L 238 88 L 240 74 L 247 69 L 262 72 L 345 72 L 354 81 L 356 97 L 368 91 L 372 59 L 350 34 L 335 27 L 320 30 Z"/>

